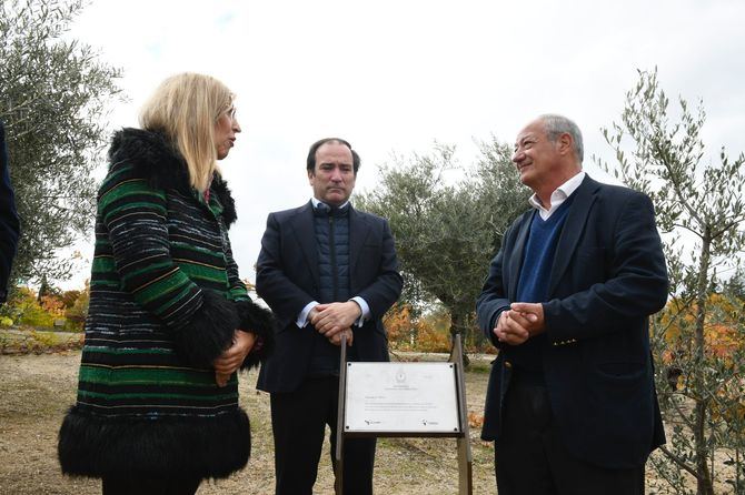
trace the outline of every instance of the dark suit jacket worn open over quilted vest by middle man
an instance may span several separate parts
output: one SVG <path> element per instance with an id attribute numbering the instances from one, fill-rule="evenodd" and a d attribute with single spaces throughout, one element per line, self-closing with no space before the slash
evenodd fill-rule
<path id="1" fill-rule="evenodd" d="M 388 361 L 381 319 L 403 286 L 394 238 L 385 219 L 349 209 L 349 287 L 352 296 L 362 297 L 370 307 L 370 319 L 352 327 L 354 347 L 359 361 Z M 309 302 L 319 300 L 319 289 L 312 204 L 270 213 L 261 239 L 256 291 L 279 324 L 276 347 L 261 365 L 258 388 L 291 392 L 305 380 L 315 330 L 298 329 L 295 322 Z"/>

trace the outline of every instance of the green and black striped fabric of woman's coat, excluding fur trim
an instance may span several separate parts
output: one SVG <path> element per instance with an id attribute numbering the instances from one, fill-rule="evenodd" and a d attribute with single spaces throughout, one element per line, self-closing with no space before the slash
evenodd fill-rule
<path id="1" fill-rule="evenodd" d="M 89 317 L 78 408 L 156 418 L 235 412 L 237 377 L 189 365 L 175 335 L 199 310 L 202 291 L 248 300 L 217 194 L 159 190 L 127 163 L 99 191 Z"/>

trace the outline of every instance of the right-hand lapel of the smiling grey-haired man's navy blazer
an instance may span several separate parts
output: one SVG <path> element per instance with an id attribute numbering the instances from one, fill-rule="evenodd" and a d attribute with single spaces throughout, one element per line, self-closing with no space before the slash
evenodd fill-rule
<path id="1" fill-rule="evenodd" d="M 569 262 L 574 257 L 574 252 L 577 249 L 577 243 L 582 233 L 585 231 L 585 224 L 589 216 L 589 211 L 593 208 L 598 183 L 589 175 L 585 176 L 579 188 L 575 191 L 574 202 L 567 214 L 559 235 L 558 244 L 556 245 L 556 255 L 554 256 L 554 265 L 548 279 L 548 295 L 554 294 L 562 276 L 569 266 Z"/>

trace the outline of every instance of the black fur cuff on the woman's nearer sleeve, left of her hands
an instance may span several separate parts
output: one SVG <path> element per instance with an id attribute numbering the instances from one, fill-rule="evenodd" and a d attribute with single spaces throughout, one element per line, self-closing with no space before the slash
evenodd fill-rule
<path id="1" fill-rule="evenodd" d="M 240 319 L 235 304 L 218 292 L 202 289 L 201 293 L 202 305 L 176 334 L 176 345 L 190 364 L 211 368 L 212 361 L 232 343 Z"/>

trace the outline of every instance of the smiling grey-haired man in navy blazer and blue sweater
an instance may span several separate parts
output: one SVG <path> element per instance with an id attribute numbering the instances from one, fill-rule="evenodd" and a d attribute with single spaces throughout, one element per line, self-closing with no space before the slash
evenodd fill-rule
<path id="1" fill-rule="evenodd" d="M 505 233 L 477 301 L 499 348 L 481 436 L 499 495 L 640 494 L 665 435 L 648 316 L 667 297 L 649 199 L 582 171 L 577 125 L 542 115 L 513 161 L 533 209 Z"/>

